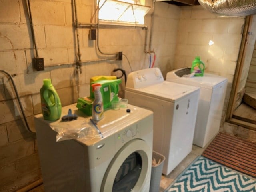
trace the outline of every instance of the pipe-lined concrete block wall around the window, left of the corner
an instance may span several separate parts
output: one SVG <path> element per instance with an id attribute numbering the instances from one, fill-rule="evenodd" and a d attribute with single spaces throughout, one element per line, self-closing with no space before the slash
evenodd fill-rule
<path id="1" fill-rule="evenodd" d="M 131 70 L 149 66 L 149 55 L 144 53 L 146 31 L 142 28 L 102 28 L 99 32 L 100 49 L 108 53 L 122 51 L 131 67 L 125 57 L 122 61 L 100 61 L 106 56 L 96 50 L 96 41 L 88 40 L 89 30 L 79 29 L 82 73 L 78 83 L 74 65 L 77 58 L 77 36 L 73 27 L 72 10 L 74 1 L 30 0 L 38 54 L 44 58 L 45 65 L 44 71 L 36 71 L 32 65 L 35 51 L 26 2 L 0 1 L 0 70 L 13 75 L 32 130 L 35 131 L 34 115 L 41 113 L 39 90 L 44 78 L 51 78 L 62 106 L 66 106 L 76 102 L 78 97 L 90 95 L 89 82 L 92 76 L 120 75 L 112 73 L 114 68 L 123 68 L 128 75 Z M 90 23 L 92 20 L 95 23 L 96 19 L 92 15 L 96 0 L 76 2 L 78 21 Z M 152 6 L 152 0 L 146 0 L 146 5 Z M 155 8 L 157 22 L 152 37 L 152 49 L 156 52 L 155 66 L 167 71 L 166 69 L 173 69 L 171 64 L 176 47 L 180 8 L 162 2 L 157 3 Z M 159 28 L 158 22 L 162 22 Z M 151 12 L 145 17 L 148 40 L 150 23 Z M 168 34 L 171 34 L 171 39 Z M 124 78 L 122 81 L 121 88 L 124 90 Z M 14 88 L 8 76 L 2 72 L 0 109 L 0 191 L 16 191 L 41 178 L 40 162 L 36 139 L 26 131 Z"/>

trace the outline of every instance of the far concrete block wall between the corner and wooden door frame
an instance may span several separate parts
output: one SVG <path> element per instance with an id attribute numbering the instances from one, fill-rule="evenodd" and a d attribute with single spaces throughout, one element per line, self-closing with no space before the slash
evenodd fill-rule
<path id="1" fill-rule="evenodd" d="M 181 8 L 174 68 L 191 67 L 195 56 L 200 56 L 205 72 L 228 78 L 221 126 L 236 70 L 244 20 L 244 17 L 208 12 L 202 6 Z M 214 44 L 209 45 L 210 40 Z"/>

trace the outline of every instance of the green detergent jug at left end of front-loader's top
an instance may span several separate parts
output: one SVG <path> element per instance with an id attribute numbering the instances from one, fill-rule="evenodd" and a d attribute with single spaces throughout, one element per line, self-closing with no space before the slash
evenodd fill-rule
<path id="1" fill-rule="evenodd" d="M 44 79 L 40 89 L 42 114 L 45 120 L 58 120 L 61 116 L 60 98 L 50 79 Z"/>

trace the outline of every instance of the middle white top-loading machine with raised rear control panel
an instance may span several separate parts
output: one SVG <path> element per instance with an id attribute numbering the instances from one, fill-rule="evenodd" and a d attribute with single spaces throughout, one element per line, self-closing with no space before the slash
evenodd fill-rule
<path id="1" fill-rule="evenodd" d="M 164 155 L 168 175 L 192 150 L 200 88 L 164 81 L 159 68 L 128 75 L 125 98 L 154 112 L 153 150 Z"/>

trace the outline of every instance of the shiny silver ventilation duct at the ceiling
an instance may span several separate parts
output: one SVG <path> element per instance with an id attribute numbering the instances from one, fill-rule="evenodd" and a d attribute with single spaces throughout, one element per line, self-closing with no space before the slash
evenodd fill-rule
<path id="1" fill-rule="evenodd" d="M 198 0 L 210 12 L 227 16 L 256 14 L 256 0 Z"/>

